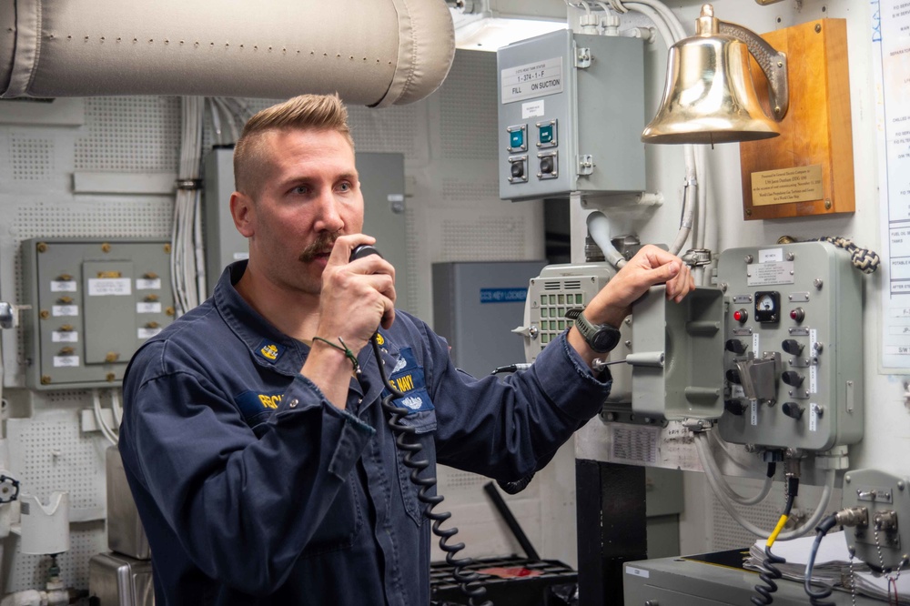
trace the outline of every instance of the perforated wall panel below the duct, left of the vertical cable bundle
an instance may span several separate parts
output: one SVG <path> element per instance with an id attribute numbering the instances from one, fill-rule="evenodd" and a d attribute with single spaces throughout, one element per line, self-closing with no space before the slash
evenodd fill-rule
<path id="1" fill-rule="evenodd" d="M 76 139 L 76 170 L 177 172 L 180 98 L 95 96 L 86 98 L 85 133 Z"/>

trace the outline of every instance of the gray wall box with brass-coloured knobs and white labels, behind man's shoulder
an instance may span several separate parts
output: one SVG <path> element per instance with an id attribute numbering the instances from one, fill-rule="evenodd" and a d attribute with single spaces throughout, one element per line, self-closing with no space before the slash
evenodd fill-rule
<path id="1" fill-rule="evenodd" d="M 174 319 L 167 240 L 33 238 L 22 247 L 30 389 L 112 387 Z"/>

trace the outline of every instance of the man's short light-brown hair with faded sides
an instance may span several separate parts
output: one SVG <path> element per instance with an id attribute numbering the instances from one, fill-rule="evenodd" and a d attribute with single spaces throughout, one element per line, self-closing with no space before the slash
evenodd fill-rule
<path id="1" fill-rule="evenodd" d="M 335 95 L 300 95 L 267 107 L 249 118 L 234 146 L 234 187 L 253 197 L 262 175 L 262 135 L 273 130 L 334 130 L 354 149 L 348 126 L 348 108 Z"/>

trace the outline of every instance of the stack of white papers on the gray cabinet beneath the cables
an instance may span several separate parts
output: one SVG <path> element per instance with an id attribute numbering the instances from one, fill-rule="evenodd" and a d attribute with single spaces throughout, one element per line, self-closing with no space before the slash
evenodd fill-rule
<path id="1" fill-rule="evenodd" d="M 781 571 L 784 579 L 803 582 L 805 565 L 809 561 L 814 541 L 815 536 L 808 535 L 799 539 L 774 543 L 771 552 L 786 560 L 786 563 L 774 564 Z M 749 557 L 743 561 L 743 567 L 753 571 L 761 570 L 764 560 L 764 544 L 763 539 L 755 541 L 749 548 Z M 853 570 L 856 593 L 880 600 L 888 599 L 889 581 L 885 576 L 876 576 L 863 561 L 856 559 L 854 559 Z M 829 532 L 822 540 L 818 553 L 815 555 L 812 581 L 824 583 L 829 587 L 834 587 L 835 590 L 851 591 L 850 552 L 847 550 L 844 530 Z M 897 601 L 902 604 L 910 604 L 910 571 L 903 571 L 896 583 L 892 583 L 890 594 L 892 601 L 895 600 L 895 592 Z"/>

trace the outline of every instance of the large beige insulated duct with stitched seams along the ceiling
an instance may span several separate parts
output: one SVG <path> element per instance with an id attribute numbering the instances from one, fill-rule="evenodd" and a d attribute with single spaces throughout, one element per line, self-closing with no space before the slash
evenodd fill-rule
<path id="1" fill-rule="evenodd" d="M 0 0 L 2 97 L 333 93 L 402 105 L 449 72 L 443 0 Z"/>

